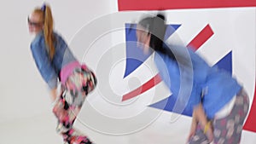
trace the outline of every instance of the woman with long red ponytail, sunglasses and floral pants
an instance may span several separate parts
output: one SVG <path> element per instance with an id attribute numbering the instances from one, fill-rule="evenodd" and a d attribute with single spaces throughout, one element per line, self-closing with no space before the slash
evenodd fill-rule
<path id="1" fill-rule="evenodd" d="M 38 71 L 49 85 L 53 112 L 58 118 L 57 132 L 65 143 L 91 143 L 73 129 L 73 123 L 90 91 L 96 87 L 96 77 L 85 65 L 80 65 L 63 38 L 53 30 L 53 18 L 49 5 L 32 11 L 28 17 L 29 32 L 35 35 L 31 43 L 33 58 Z M 57 95 L 58 81 L 61 95 Z"/>

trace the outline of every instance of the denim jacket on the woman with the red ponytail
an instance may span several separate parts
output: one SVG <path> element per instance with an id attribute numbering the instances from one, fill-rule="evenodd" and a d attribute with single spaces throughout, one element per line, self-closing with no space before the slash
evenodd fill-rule
<path id="1" fill-rule="evenodd" d="M 49 48 L 44 40 L 44 32 L 39 32 L 31 43 L 32 55 L 38 71 L 50 89 L 56 88 L 61 68 L 76 60 L 63 38 L 57 33 L 54 33 L 54 36 L 55 55 L 53 60 L 49 58 Z"/>

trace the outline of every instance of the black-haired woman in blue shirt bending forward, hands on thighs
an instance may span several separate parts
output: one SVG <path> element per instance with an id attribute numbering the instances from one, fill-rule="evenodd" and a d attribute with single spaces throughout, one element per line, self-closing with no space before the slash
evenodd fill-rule
<path id="1" fill-rule="evenodd" d="M 189 143 L 239 143 L 247 93 L 228 72 L 208 66 L 193 48 L 164 43 L 165 32 L 163 14 L 148 16 L 138 22 L 137 43 L 144 53 L 153 53 L 160 77 L 176 101 L 172 111 L 192 115 Z"/>

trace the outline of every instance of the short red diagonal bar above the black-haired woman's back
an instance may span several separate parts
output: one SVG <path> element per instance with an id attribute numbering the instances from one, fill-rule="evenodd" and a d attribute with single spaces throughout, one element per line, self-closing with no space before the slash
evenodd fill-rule
<path id="1" fill-rule="evenodd" d="M 201 32 L 199 32 L 194 39 L 188 44 L 188 46 L 193 47 L 195 50 L 199 49 L 203 43 L 212 37 L 213 32 L 211 26 L 207 25 Z"/>

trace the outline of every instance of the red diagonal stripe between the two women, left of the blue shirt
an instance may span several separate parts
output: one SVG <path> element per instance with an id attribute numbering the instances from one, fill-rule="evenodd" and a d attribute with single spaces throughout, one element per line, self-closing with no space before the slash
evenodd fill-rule
<path id="1" fill-rule="evenodd" d="M 159 84 L 160 82 L 161 82 L 160 74 L 157 74 L 154 76 L 154 78 L 151 78 L 150 80 L 148 80 L 147 83 L 143 84 L 137 89 L 132 90 L 130 93 L 123 95 L 122 101 L 129 100 L 133 97 L 136 97 L 137 95 L 141 95 L 148 89 L 153 88 L 154 85 Z"/>

